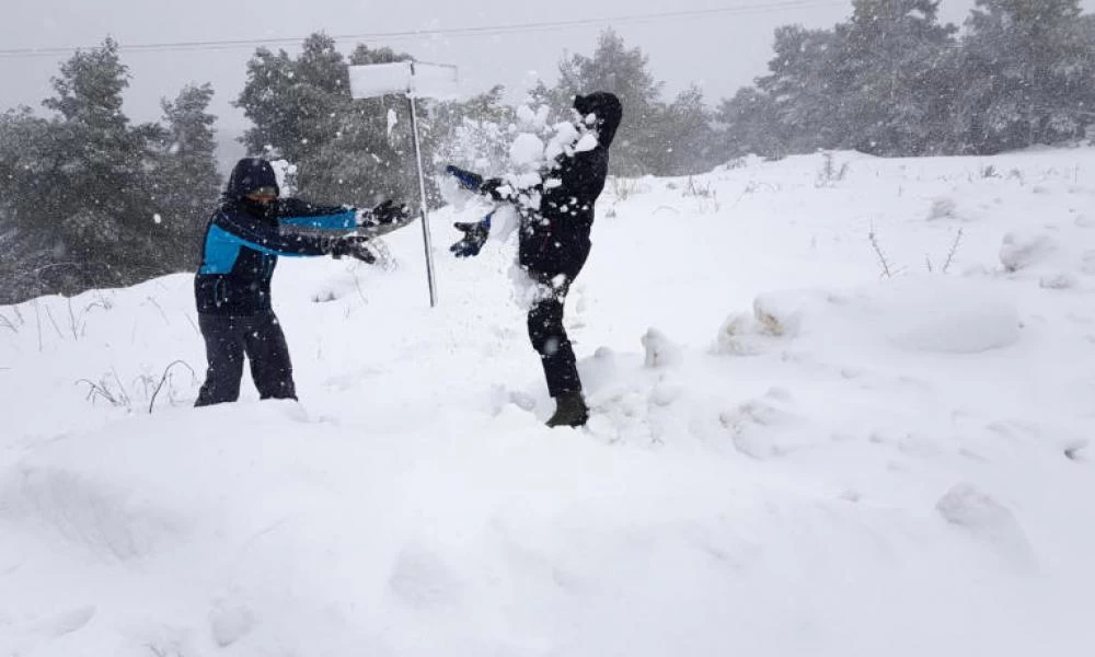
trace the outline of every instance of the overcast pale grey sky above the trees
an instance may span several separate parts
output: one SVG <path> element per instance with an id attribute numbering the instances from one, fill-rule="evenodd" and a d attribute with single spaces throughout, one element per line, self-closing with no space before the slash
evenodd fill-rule
<path id="1" fill-rule="evenodd" d="M 1091 11 L 1095 0 L 1085 0 Z M 741 8 L 658 21 L 608 21 L 516 34 L 434 35 L 367 41 L 390 45 L 423 60 L 460 67 L 472 91 L 502 83 L 522 89 L 537 74 L 553 81 L 564 51 L 591 54 L 598 33 L 611 25 L 629 46 L 641 47 L 650 70 L 666 83 L 666 96 L 698 82 L 711 105 L 764 72 L 772 31 L 788 23 L 830 26 L 851 13 L 851 0 L 552 0 L 474 2 L 424 0 L 4 0 L 0 50 L 89 47 L 114 36 L 132 74 L 126 113 L 134 120 L 160 116 L 161 96 L 174 97 L 187 82 L 211 82 L 212 111 L 219 128 L 235 132 L 246 125 L 229 103 L 243 84 L 245 61 L 254 46 L 195 51 L 126 51 L 127 45 L 217 39 L 286 37 L 315 31 L 330 35 L 483 27 L 526 23 L 598 20 L 636 14 Z M 15 7 L 11 7 L 15 4 Z M 943 0 L 941 13 L 960 24 L 973 0 Z M 358 39 L 339 39 L 344 53 Z M 275 46 L 276 48 L 277 46 Z M 286 45 L 287 50 L 295 47 Z M 19 104 L 39 107 L 51 95 L 49 79 L 67 56 L 10 57 L 0 54 L 0 110 Z M 534 73 L 533 73 L 534 72 Z M 517 93 L 516 91 L 514 92 Z"/>

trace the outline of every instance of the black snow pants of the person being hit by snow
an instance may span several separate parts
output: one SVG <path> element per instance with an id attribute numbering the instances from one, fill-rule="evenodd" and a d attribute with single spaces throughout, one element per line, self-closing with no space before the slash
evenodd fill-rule
<path id="1" fill-rule="evenodd" d="M 570 284 L 578 277 L 589 255 L 588 242 L 584 249 L 570 254 L 562 267 L 552 272 L 541 272 L 527 267 L 529 276 L 539 284 L 543 293 L 529 309 L 529 339 L 532 348 L 540 354 L 540 362 L 548 380 L 548 392 L 553 397 L 581 392 L 581 380 L 574 356 L 570 338 L 563 327 L 563 307 Z"/>

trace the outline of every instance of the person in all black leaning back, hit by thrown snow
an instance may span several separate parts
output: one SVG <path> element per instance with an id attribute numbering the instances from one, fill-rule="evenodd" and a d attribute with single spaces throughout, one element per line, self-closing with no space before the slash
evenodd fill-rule
<path id="1" fill-rule="evenodd" d="M 521 189 L 503 178 L 484 181 L 479 174 L 448 168 L 463 186 L 517 205 L 521 218 L 518 263 L 543 290 L 529 310 L 528 328 L 556 403 L 548 420 L 551 427 L 581 426 L 589 418 L 574 348 L 563 327 L 563 307 L 589 256 L 593 204 L 604 188 L 609 147 L 623 117 L 620 100 L 603 91 L 576 96 L 574 110 L 580 132 L 593 135 L 596 141 L 578 141 L 550 162 L 539 185 Z M 489 217 L 456 227 L 464 238 L 450 250 L 458 257 L 476 255 L 489 235 Z"/>

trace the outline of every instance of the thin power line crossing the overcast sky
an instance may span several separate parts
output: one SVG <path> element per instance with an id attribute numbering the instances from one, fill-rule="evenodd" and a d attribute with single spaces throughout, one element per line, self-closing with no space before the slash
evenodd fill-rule
<path id="1" fill-rule="evenodd" d="M 609 16 L 603 19 L 576 19 L 572 21 L 541 21 L 534 23 L 514 23 L 503 25 L 483 25 L 477 27 L 439 27 L 428 30 L 405 30 L 396 32 L 367 32 L 362 34 L 333 35 L 335 41 L 402 41 L 408 38 L 423 38 L 433 36 L 493 36 L 499 34 L 520 34 L 526 32 L 543 32 L 552 30 L 565 30 L 569 27 L 583 27 L 588 25 L 603 24 L 641 24 L 656 21 L 673 21 L 702 19 L 716 15 L 745 14 L 745 13 L 770 13 L 774 11 L 786 11 L 791 9 L 814 9 L 822 7 L 843 7 L 846 0 L 784 0 L 782 2 L 765 2 L 759 4 L 739 4 L 736 7 L 724 7 L 715 9 L 696 9 L 667 11 L 648 14 L 627 14 L 620 16 Z M 118 45 L 118 50 L 129 53 L 175 53 L 191 50 L 227 50 L 234 48 L 254 48 L 258 46 L 293 45 L 304 41 L 306 37 L 269 37 L 249 39 L 222 39 L 222 41 L 188 41 L 159 44 L 134 44 Z M 0 49 L 0 59 L 16 59 L 27 57 L 55 57 L 68 55 L 77 47 L 43 47 L 43 48 L 8 48 Z M 87 48 L 84 48 L 87 49 Z"/>

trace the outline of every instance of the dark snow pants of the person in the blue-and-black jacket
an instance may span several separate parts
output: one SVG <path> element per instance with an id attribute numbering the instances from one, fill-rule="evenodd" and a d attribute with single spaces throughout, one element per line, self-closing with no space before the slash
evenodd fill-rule
<path id="1" fill-rule="evenodd" d="M 273 311 L 252 316 L 199 314 L 198 326 L 209 369 L 195 406 L 240 397 L 244 355 L 261 399 L 297 399 L 289 346 Z"/>

